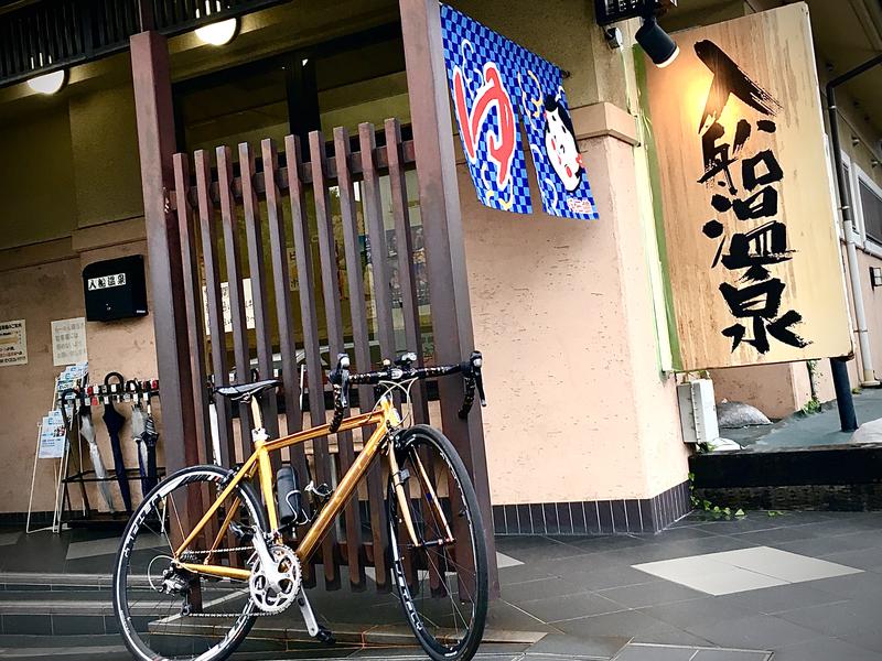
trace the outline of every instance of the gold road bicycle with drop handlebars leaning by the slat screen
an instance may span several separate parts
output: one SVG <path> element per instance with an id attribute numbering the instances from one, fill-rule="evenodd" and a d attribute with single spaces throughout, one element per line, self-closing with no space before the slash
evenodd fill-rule
<path id="1" fill-rule="evenodd" d="M 330 379 L 331 424 L 276 440 L 262 429 L 257 395 L 278 381 L 216 390 L 251 407 L 255 451 L 236 469 L 206 465 L 179 470 L 150 491 L 132 514 L 114 571 L 114 609 L 136 658 L 225 659 L 258 616 L 278 615 L 294 604 L 310 636 L 333 643 L 332 632 L 318 622 L 310 606 L 303 567 L 377 457 L 388 476 L 388 566 L 405 617 L 429 658 L 474 657 L 487 614 L 487 553 L 477 499 L 450 441 L 437 429 L 410 425 L 408 420 L 410 390 L 421 379 L 461 375 L 463 419 L 475 391 L 486 405 L 482 357 L 474 351 L 463 362 L 424 368 L 415 367 L 415 359 L 405 354 L 379 371 L 349 373 L 348 357 L 341 354 Z M 368 413 L 344 419 L 352 384 L 376 386 L 377 404 Z M 397 400 L 407 404 L 407 415 L 399 413 Z M 308 476 L 291 466 L 283 466 L 273 479 L 271 452 L 369 426 L 374 431 L 369 437 L 364 434 L 352 467 L 333 488 L 310 480 L 301 489 L 300 480 Z M 388 613 L 386 604 L 375 604 L 376 599 L 365 605 L 366 618 Z"/>

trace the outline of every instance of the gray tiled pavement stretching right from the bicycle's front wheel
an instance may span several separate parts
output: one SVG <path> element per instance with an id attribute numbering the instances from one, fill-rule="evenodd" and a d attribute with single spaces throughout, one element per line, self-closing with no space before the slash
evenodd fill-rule
<path id="1" fill-rule="evenodd" d="M 36 540 L 19 544 L 21 551 Z M 862 572 L 711 596 L 633 567 L 761 546 Z M 493 626 L 547 635 L 531 646 L 485 646 L 482 660 L 882 661 L 882 512 L 690 517 L 655 537 L 510 537 L 497 538 L 497 548 L 524 564 L 499 571 L 502 600 L 492 607 Z M 26 571 L 28 560 L 13 556 L 14 549 L 0 548 L 2 571 Z M 64 560 L 66 550 L 52 546 L 46 554 L 67 571 L 101 571 L 100 559 Z M 346 590 L 334 595 L 322 615 L 331 617 L 337 605 L 345 609 Z M 351 647 L 283 658 L 424 657 L 412 648 Z"/>

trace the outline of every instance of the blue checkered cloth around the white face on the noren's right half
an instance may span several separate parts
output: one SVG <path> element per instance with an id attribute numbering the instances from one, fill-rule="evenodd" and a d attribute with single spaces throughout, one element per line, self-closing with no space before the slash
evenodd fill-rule
<path id="1" fill-rule="evenodd" d="M 584 167 L 581 169 L 578 187 L 567 191 L 560 176 L 551 166 L 549 154 L 546 151 L 544 99 L 547 96 L 556 99 L 561 109 L 560 112 L 569 116 L 567 94 L 563 91 L 560 69 L 535 53 L 517 45 L 514 57 L 509 62 L 516 72 L 517 106 L 527 131 L 533 163 L 536 166 L 536 178 L 542 195 L 542 209 L 546 214 L 563 218 L 596 219 L 598 207 L 594 204 L 594 196 L 591 193 Z"/>

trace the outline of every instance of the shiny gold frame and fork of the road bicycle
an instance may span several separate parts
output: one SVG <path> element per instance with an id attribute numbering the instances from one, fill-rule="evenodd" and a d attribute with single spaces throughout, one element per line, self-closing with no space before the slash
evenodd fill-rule
<path id="1" fill-rule="evenodd" d="M 260 419 L 256 418 L 255 420 L 260 420 Z M 301 563 L 305 563 L 312 556 L 313 552 L 319 546 L 321 540 L 324 538 L 325 533 L 333 524 L 334 519 L 340 514 L 340 512 L 346 506 L 346 502 L 355 492 L 358 483 L 366 475 L 370 462 L 374 459 L 377 453 L 383 448 L 384 441 L 389 434 L 390 429 L 399 424 L 399 422 L 400 418 L 398 415 L 398 411 L 395 409 L 390 398 L 384 397 L 379 401 L 379 408 L 377 410 L 372 411 L 370 413 L 363 413 L 361 415 L 347 418 L 341 423 L 337 432 L 351 431 L 372 424 L 376 425 L 376 429 L 370 434 L 370 437 L 367 440 L 367 442 L 364 444 L 362 452 L 356 457 L 352 467 L 346 472 L 346 474 L 342 477 L 342 479 L 337 484 L 337 487 L 334 489 L 330 499 L 319 512 L 316 519 L 312 522 L 312 525 L 310 525 L 303 539 L 300 540 L 294 552 L 297 553 L 297 556 Z M 263 495 L 263 501 L 267 508 L 267 516 L 270 523 L 270 532 L 272 532 L 273 535 L 278 535 L 279 519 L 278 519 L 278 512 L 276 511 L 276 497 L 272 490 L 273 476 L 269 458 L 270 453 L 280 451 L 283 447 L 289 447 L 291 445 L 305 443 L 306 441 L 312 441 L 321 436 L 326 436 L 330 433 L 331 433 L 330 425 L 323 424 L 313 427 L 311 430 L 305 430 L 272 441 L 255 441 L 255 452 L 251 454 L 250 457 L 248 457 L 248 460 L 246 460 L 245 464 L 241 466 L 241 468 L 239 468 L 239 470 L 236 473 L 236 475 L 233 477 L 229 484 L 215 499 L 214 503 L 212 503 L 212 506 L 206 510 L 205 514 L 202 517 L 196 527 L 184 539 L 184 541 L 174 552 L 174 561 L 178 564 L 178 566 L 194 574 L 218 576 L 223 578 L 233 578 L 237 581 L 248 581 L 248 578 L 251 575 L 251 573 L 248 570 L 208 564 L 208 561 L 211 560 L 213 553 L 209 553 L 206 556 L 205 564 L 185 563 L 181 562 L 179 559 L 187 550 L 187 546 L 193 542 L 193 540 L 195 540 L 196 537 L 205 529 L 208 522 L 212 521 L 213 517 L 217 512 L 220 505 L 227 498 L 229 498 L 229 496 L 234 492 L 236 486 L 244 479 L 251 479 L 255 476 L 255 474 L 257 474 L 258 476 L 260 490 Z M 389 458 L 389 468 L 391 472 L 390 474 L 397 475 L 398 464 L 395 457 L 395 453 L 390 451 L 387 453 L 387 456 Z M 422 479 L 423 477 L 424 477 L 424 472 L 423 476 L 421 476 L 420 479 Z M 401 502 L 402 506 L 406 505 L 408 496 L 405 492 L 405 486 L 400 483 L 400 480 L 394 480 L 394 485 L 399 502 Z M 428 484 L 428 488 L 432 489 L 430 483 Z M 434 496 L 434 494 L 432 494 L 432 496 Z M 434 497 L 432 498 L 433 502 L 437 502 L 437 500 L 438 500 L 437 498 Z M 226 518 L 222 523 L 219 531 L 215 535 L 212 548 L 208 549 L 209 552 L 214 552 L 219 548 L 220 542 L 227 534 L 230 521 L 233 521 L 233 518 L 235 517 L 239 506 L 240 501 L 238 498 L 236 498 L 233 501 L 233 505 L 229 507 L 229 511 L 227 512 Z M 409 537 L 411 538 L 411 541 L 415 544 L 419 544 L 419 540 L 417 539 L 413 523 L 410 518 L 410 509 L 408 507 L 402 507 L 400 509 L 402 510 L 402 519 L 405 521 L 405 525 L 407 528 Z M 437 513 L 440 514 L 447 527 L 447 520 L 440 507 L 437 508 Z M 447 530 L 450 529 L 447 528 Z M 452 541 L 452 535 L 450 537 L 451 539 L 448 541 Z"/>

